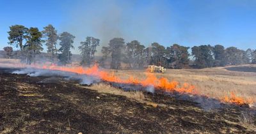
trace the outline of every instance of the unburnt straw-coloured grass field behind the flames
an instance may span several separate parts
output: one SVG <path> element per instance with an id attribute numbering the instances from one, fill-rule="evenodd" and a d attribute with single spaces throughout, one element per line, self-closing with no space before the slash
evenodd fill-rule
<path id="1" fill-rule="evenodd" d="M 236 70 L 236 66 L 205 68 L 205 69 L 184 69 L 166 70 L 166 73 L 155 73 L 158 78 L 166 77 L 168 80 L 175 80 L 183 84 L 193 84 L 199 94 L 212 98 L 223 98 L 234 92 L 236 96 L 250 98 L 256 101 L 256 72 L 248 72 L 247 69 L 256 70 L 256 65 L 239 66 L 237 71 L 229 71 L 228 68 Z M 233 69 L 234 68 L 234 69 Z M 244 70 L 244 71 L 243 71 Z M 108 70 L 123 78 L 133 76 L 145 78 L 143 70 Z"/>

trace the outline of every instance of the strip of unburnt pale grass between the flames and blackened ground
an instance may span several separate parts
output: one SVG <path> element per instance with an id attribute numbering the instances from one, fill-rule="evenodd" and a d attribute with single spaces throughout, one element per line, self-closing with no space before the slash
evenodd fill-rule
<path id="1" fill-rule="evenodd" d="M 93 84 L 93 86 L 86 87 L 86 88 L 93 89 L 95 91 L 98 91 L 99 93 L 108 93 L 108 94 L 125 96 L 127 98 L 134 99 L 137 101 L 145 100 L 145 96 L 141 91 L 125 92 L 122 89 L 112 87 L 109 84 L 104 84 L 104 83 Z"/>

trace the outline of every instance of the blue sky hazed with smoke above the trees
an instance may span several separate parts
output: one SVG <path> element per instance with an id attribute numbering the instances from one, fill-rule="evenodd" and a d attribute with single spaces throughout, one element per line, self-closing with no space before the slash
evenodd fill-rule
<path id="1" fill-rule="evenodd" d="M 255 0 L 0 0 L 0 49 L 8 45 L 9 26 L 40 30 L 52 24 L 58 33 L 76 36 L 78 52 L 86 36 L 107 45 L 114 37 L 148 46 L 178 43 L 256 49 Z"/>

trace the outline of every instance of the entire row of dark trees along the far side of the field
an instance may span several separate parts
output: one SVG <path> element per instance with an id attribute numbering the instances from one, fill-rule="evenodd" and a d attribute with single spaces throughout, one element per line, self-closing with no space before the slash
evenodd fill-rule
<path id="1" fill-rule="evenodd" d="M 37 27 L 24 27 L 21 25 L 10 26 L 8 31 L 10 45 L 20 48 L 20 59 L 27 64 L 35 62 L 35 56 L 47 47 L 47 56 L 51 63 L 70 64 L 76 36 L 63 32 L 58 34 L 56 29 L 49 24 L 39 31 Z M 60 45 L 60 48 L 56 46 Z M 81 52 L 81 65 L 90 66 L 95 62 L 95 52 L 100 45 L 100 40 L 92 36 L 86 37 L 78 47 Z M 12 47 L 4 47 L 6 55 L 10 58 Z M 191 48 L 178 44 L 164 47 L 159 43 L 152 43 L 145 47 L 138 40 L 125 43 L 123 38 L 113 38 L 106 47 L 101 49 L 102 57 L 100 66 L 105 67 L 108 58 L 111 58 L 110 67 L 122 68 L 122 63 L 129 68 L 143 68 L 148 64 L 164 66 L 165 68 L 207 68 L 213 66 L 227 66 L 239 64 L 256 64 L 256 50 L 248 48 L 241 50 L 236 47 L 224 48 L 222 45 L 200 45 Z"/>

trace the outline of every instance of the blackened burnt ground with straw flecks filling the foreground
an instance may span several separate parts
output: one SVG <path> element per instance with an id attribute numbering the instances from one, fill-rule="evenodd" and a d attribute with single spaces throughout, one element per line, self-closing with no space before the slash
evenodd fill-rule
<path id="1" fill-rule="evenodd" d="M 61 77 L 8 71 L 0 69 L 0 133 L 256 133 L 239 123 L 243 107 L 207 112 L 191 101 L 145 93 L 154 107 Z"/>

